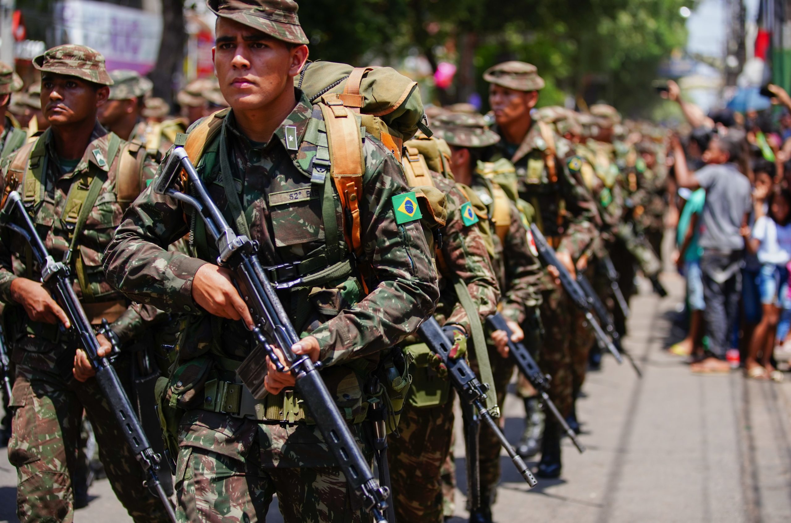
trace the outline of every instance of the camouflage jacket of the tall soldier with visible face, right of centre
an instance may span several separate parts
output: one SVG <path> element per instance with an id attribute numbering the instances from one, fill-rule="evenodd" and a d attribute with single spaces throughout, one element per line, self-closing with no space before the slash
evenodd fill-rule
<path id="1" fill-rule="evenodd" d="M 496 126 L 493 130 L 498 131 Z M 568 252 L 577 260 L 590 248 L 600 218 L 585 184 L 566 169 L 566 160 L 573 155 L 570 142 L 554 134 L 554 145 L 557 176 L 554 183 L 544 156 L 547 141 L 535 121 L 519 145 L 509 144 L 502 138 L 491 146 L 487 159 L 494 161 L 505 157 L 512 161 L 517 169 L 520 198 L 536 209 L 536 225 L 558 252 Z"/>

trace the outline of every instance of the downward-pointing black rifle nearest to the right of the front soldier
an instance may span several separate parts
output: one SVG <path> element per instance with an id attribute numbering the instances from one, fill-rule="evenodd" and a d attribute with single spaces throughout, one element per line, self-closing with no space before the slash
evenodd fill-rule
<path id="1" fill-rule="evenodd" d="M 486 406 L 483 404 L 483 400 L 486 400 L 486 390 L 488 390 L 488 386 L 482 385 L 481 382 L 478 381 L 478 377 L 475 377 L 475 373 L 472 372 L 472 369 L 464 358 L 450 357 L 452 333 L 443 331 L 440 324 L 437 323 L 437 320 L 430 317 L 418 327 L 418 334 L 423 342 L 428 345 L 430 351 L 437 354 L 443 365 L 448 368 L 448 377 L 453 387 L 456 388 L 456 392 L 459 393 L 462 403 L 471 404 L 475 407 L 480 418 L 483 419 L 484 423 L 486 423 L 498 437 L 500 445 L 502 445 L 502 448 L 505 449 L 505 452 L 511 457 L 513 464 L 517 467 L 517 470 L 524 480 L 531 488 L 535 487 L 537 483 L 536 478 L 533 477 L 528 465 L 524 464 L 524 460 L 522 460 L 519 454 L 517 454 L 517 451 L 513 449 L 513 446 L 505 438 L 505 434 L 502 434 L 497 422 L 494 421 L 494 418 L 492 418 L 489 411 L 486 410 Z"/>

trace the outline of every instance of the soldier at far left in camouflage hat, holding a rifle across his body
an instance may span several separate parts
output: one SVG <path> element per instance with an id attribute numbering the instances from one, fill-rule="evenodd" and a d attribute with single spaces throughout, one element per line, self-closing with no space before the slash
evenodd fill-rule
<path id="1" fill-rule="evenodd" d="M 33 60 L 41 71 L 44 114 L 51 127 L 9 157 L 2 170 L 3 195 L 19 190 L 47 250 L 77 275 L 74 291 L 91 323 L 104 318 L 128 343 L 157 316 L 151 306 L 130 306 L 104 279 L 100 253 L 156 165 L 108 133 L 97 108 L 112 85 L 104 57 L 89 47 L 53 47 Z M 126 157 L 130 157 L 127 161 Z M 92 189 L 85 190 L 87 187 Z M 123 190 L 121 189 L 123 187 Z M 72 521 L 72 477 L 80 445 L 82 413 L 96 430 L 105 471 L 134 521 L 168 521 L 158 498 L 143 486 L 142 470 L 123 444 L 93 367 L 76 340 L 62 334 L 66 314 L 40 281 L 25 240 L 7 229 L 0 242 L 0 300 L 17 377 L 11 406 L 9 461 L 17 468 L 17 515 L 21 521 Z M 97 335 L 100 355 L 111 345 Z M 119 376 L 127 358 L 116 359 Z M 74 369 L 72 369 L 74 367 Z M 74 376 L 72 376 L 74 374 Z"/>

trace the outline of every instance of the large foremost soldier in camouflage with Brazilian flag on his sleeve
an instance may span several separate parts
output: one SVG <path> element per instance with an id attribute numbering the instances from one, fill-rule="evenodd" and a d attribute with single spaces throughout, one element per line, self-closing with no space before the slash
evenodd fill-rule
<path id="1" fill-rule="evenodd" d="M 290 287 L 278 292 L 302 335 L 292 349 L 323 363 L 331 396 L 370 456 L 364 385 L 384 351 L 414 332 L 439 297 L 414 196 L 392 153 L 365 135 L 358 213 L 346 218 L 331 177 L 322 181 L 331 163 L 321 161 L 330 158 L 320 140 L 327 139 L 324 113 L 293 87 L 308 58 L 297 4 L 207 3 L 218 15 L 214 66 L 231 108 L 194 126 L 186 146 L 206 151 L 197 170 L 211 198 L 258 242 L 273 282 Z M 214 135 L 204 134 L 208 126 Z M 292 374 L 270 362 L 269 394 L 244 408 L 229 408 L 230 396 L 204 387 L 208 380 L 216 391 L 249 397 L 235 369 L 252 350 L 253 321 L 229 269 L 214 265 L 214 242 L 195 225 L 202 222 L 185 212 L 195 211 L 149 188 L 104 254 L 119 290 L 189 316 L 165 389 L 173 394 L 165 407 L 184 407 L 176 427 L 180 521 L 264 521 L 275 493 L 286 521 L 368 521 L 320 430 L 306 422 Z M 198 257 L 165 250 L 189 230 Z M 328 265 L 335 274 L 322 277 Z M 313 281 L 298 284 L 305 279 Z"/>

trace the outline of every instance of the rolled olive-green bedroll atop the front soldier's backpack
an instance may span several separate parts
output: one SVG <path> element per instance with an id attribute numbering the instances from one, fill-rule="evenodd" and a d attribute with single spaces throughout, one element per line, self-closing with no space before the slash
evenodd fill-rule
<path id="1" fill-rule="evenodd" d="M 431 134 L 417 82 L 392 67 L 309 62 L 294 84 L 313 104 L 343 104 L 358 113 L 365 130 L 399 160 L 403 142 L 418 130 Z"/>

